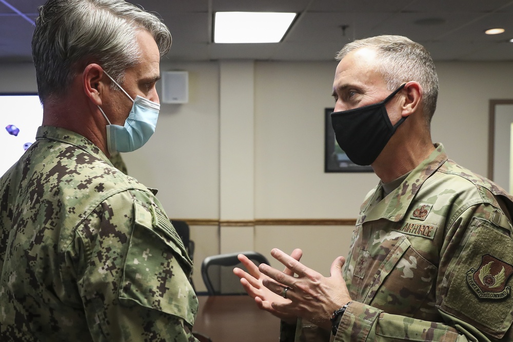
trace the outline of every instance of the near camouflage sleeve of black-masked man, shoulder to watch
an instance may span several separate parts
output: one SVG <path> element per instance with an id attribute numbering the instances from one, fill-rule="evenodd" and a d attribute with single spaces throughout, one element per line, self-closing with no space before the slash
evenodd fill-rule
<path id="1" fill-rule="evenodd" d="M 334 341 L 513 340 L 511 224 L 499 206 L 469 205 L 449 218 L 437 281 L 443 322 L 392 315 L 351 302 Z"/>

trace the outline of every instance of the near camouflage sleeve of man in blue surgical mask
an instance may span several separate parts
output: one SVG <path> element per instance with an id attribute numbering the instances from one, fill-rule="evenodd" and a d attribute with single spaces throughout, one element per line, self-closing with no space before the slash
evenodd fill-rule
<path id="1" fill-rule="evenodd" d="M 191 327 L 198 301 L 184 271 L 190 264 L 169 219 L 160 219 L 151 200 L 134 197 L 141 192 L 109 197 L 84 220 L 69 247 L 91 336 L 196 341 Z"/>

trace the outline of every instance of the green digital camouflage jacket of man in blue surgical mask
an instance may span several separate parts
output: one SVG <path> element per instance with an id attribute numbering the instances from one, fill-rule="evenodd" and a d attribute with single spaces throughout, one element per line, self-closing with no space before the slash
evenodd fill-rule
<path id="1" fill-rule="evenodd" d="M 1 341 L 195 341 L 192 264 L 154 194 L 41 127 L 0 178 Z"/>

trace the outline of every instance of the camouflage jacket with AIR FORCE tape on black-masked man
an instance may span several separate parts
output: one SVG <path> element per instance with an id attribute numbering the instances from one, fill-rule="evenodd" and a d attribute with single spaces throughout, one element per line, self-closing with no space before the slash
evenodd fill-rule
<path id="1" fill-rule="evenodd" d="M 282 323 L 281 340 L 513 341 L 512 201 L 436 145 L 397 189 L 383 197 L 380 184 L 362 204 L 337 335 L 299 321 Z"/>

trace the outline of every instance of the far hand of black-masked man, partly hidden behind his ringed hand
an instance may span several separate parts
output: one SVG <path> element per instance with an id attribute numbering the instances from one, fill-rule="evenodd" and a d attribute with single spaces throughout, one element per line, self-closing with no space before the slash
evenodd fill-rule
<path id="1" fill-rule="evenodd" d="M 302 255 L 303 251 L 301 249 L 294 249 L 289 257 L 291 257 L 294 260 L 299 260 L 301 259 Z M 283 293 L 284 286 L 281 286 L 280 284 L 275 284 L 276 289 L 281 288 L 280 293 L 278 294 L 269 290 L 268 288 L 262 285 L 262 282 L 265 279 L 268 283 L 271 283 L 273 282 L 272 279 L 262 274 L 259 271 L 258 267 L 255 266 L 255 264 L 253 264 L 253 261 L 249 260 L 245 255 L 239 254 L 238 258 L 241 261 L 241 263 L 246 267 L 249 273 L 245 272 L 240 268 L 234 268 L 233 273 L 235 273 L 236 276 L 241 278 L 242 286 L 244 287 L 246 292 L 254 298 L 255 303 L 257 303 L 257 306 L 262 310 L 269 311 L 274 316 L 279 317 L 288 324 L 295 324 L 295 321 L 298 319 L 297 316 L 277 311 L 271 305 L 271 303 L 290 303 L 290 300 L 285 299 L 281 296 L 281 294 Z M 293 277 L 294 275 L 294 273 L 287 268 L 285 268 L 283 272 L 284 274 L 287 274 L 291 277 Z"/>

